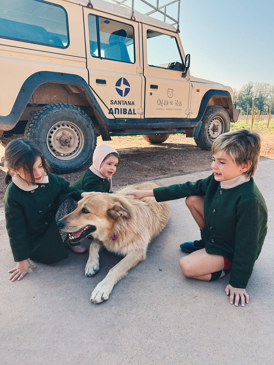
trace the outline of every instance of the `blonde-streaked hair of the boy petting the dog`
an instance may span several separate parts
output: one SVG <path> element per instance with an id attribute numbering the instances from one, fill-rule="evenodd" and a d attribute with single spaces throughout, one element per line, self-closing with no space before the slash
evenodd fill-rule
<path id="1" fill-rule="evenodd" d="M 212 154 L 227 153 L 238 166 L 243 162 L 251 161 L 250 168 L 244 174 L 252 177 L 259 162 L 260 148 L 260 134 L 242 128 L 219 135 L 213 142 Z"/>

